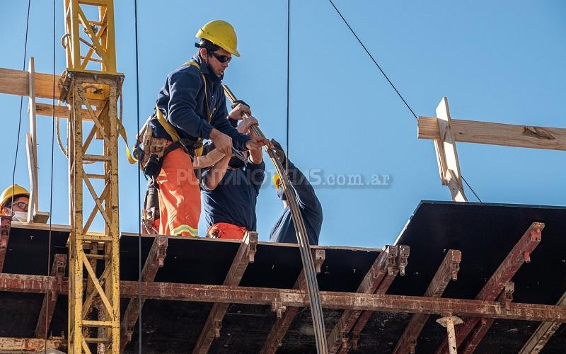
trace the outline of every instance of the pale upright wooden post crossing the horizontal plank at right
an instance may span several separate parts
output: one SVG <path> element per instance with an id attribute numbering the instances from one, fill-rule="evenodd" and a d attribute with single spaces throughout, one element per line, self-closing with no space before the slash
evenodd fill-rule
<path id="1" fill-rule="evenodd" d="M 452 132 L 448 98 L 443 97 L 437 107 L 437 124 L 439 139 L 434 140 L 434 149 L 437 152 L 437 161 L 440 179 L 447 185 L 455 202 L 467 202 L 466 193 L 462 185 L 462 174 L 456 151 L 456 140 Z"/>

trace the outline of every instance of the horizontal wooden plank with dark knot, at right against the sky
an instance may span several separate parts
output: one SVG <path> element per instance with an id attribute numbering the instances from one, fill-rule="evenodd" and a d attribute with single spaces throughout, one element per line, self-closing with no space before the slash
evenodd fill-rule
<path id="1" fill-rule="evenodd" d="M 419 117 L 418 138 L 440 139 L 438 118 Z M 504 147 L 566 150 L 566 128 L 514 125 L 476 120 L 452 119 L 456 142 L 472 142 Z"/>

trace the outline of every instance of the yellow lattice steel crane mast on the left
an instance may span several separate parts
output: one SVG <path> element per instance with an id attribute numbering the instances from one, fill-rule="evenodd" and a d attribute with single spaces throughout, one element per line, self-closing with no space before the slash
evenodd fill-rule
<path id="1" fill-rule="evenodd" d="M 62 76 L 62 99 L 71 106 L 67 133 L 73 139 L 69 143 L 69 353 L 119 353 L 117 98 L 124 76 L 116 72 L 114 4 L 113 0 L 64 0 L 64 13 L 67 71 Z M 93 13 L 96 18 L 88 18 Z M 83 120 L 83 107 L 88 120 Z M 101 144 L 91 144 L 93 139 Z M 92 165 L 85 173 L 88 162 Z M 103 176 L 101 188 L 91 182 L 93 169 Z M 92 207 L 86 220 L 85 205 Z M 91 229 L 96 225 L 103 225 L 103 232 Z"/>

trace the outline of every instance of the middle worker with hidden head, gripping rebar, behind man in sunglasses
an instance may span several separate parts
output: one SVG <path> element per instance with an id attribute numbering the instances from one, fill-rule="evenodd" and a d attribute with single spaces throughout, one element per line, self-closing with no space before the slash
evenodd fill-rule
<path id="1" fill-rule="evenodd" d="M 254 133 L 250 127 L 258 124 L 253 117 L 244 118 L 238 132 Z M 207 220 L 207 236 L 218 239 L 243 239 L 246 231 L 256 231 L 255 204 L 265 178 L 262 149 L 233 156 L 223 178 L 210 178 L 213 170 L 202 174 L 202 205 Z"/>

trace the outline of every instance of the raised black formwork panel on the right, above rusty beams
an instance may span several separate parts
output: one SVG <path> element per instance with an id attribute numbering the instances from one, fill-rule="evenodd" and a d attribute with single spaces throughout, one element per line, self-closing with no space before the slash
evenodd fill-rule
<path id="1" fill-rule="evenodd" d="M 451 281 L 442 296 L 474 299 L 533 222 L 545 223 L 541 243 L 531 253 L 531 263 L 522 265 L 512 278 L 513 301 L 555 304 L 566 292 L 566 207 L 422 201 L 396 241 L 410 246 L 406 274 L 395 278 L 387 294 L 424 295 L 446 251 L 458 249 L 462 252 L 458 280 Z M 438 317 L 431 316 L 424 326 L 417 353 L 434 353 L 446 338 L 446 330 L 435 322 Z M 398 326 L 398 319 L 395 316 L 388 323 Z M 400 337 L 408 319 L 394 337 Z M 372 316 L 361 333 L 360 348 L 365 341 L 374 341 L 382 322 L 383 314 Z M 497 319 L 475 353 L 517 353 L 537 326 Z M 381 353 L 378 347 L 373 349 Z M 566 353 L 564 326 L 543 353 Z"/>

